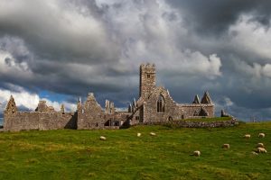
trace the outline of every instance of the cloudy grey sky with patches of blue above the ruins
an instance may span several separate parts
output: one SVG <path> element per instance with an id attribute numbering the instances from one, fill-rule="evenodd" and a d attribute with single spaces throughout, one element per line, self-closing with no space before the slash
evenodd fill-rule
<path id="1" fill-rule="evenodd" d="M 243 120 L 271 119 L 269 0 L 1 0 L 0 116 L 10 94 L 22 110 L 40 99 L 74 110 L 93 92 L 126 107 L 138 68 L 178 103 L 210 92 Z"/>

